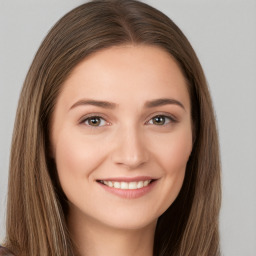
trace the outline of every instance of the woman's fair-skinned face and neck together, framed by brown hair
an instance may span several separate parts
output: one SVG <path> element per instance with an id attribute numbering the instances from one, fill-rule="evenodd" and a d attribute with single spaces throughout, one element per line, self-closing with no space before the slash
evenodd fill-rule
<path id="1" fill-rule="evenodd" d="M 153 255 L 157 219 L 192 150 L 190 107 L 178 65 L 160 48 L 115 46 L 75 67 L 51 142 L 80 255 Z"/>

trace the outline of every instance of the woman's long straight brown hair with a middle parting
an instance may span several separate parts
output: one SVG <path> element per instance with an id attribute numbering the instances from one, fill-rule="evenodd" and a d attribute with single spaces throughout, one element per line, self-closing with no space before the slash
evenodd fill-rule
<path id="1" fill-rule="evenodd" d="M 49 157 L 49 123 L 63 82 L 88 55 L 120 44 L 161 47 L 184 77 L 194 144 L 175 202 L 157 223 L 155 256 L 217 256 L 220 160 L 212 102 L 190 43 L 160 11 L 133 0 L 96 0 L 51 29 L 29 69 L 13 133 L 5 245 L 17 255 L 75 255 L 66 226 L 67 199 Z"/>

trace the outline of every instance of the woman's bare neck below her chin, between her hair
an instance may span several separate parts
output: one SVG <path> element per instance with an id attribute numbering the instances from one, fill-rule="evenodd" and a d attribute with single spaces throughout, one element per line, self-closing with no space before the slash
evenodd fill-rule
<path id="1" fill-rule="evenodd" d="M 68 227 L 79 256 L 153 256 L 156 222 L 127 230 L 70 214 Z"/>

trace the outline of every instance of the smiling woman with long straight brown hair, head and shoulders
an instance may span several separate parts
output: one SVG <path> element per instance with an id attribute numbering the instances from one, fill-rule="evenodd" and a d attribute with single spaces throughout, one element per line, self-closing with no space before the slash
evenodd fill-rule
<path id="1" fill-rule="evenodd" d="M 179 28 L 137 1 L 96 0 L 65 15 L 20 96 L 4 246 L 219 255 L 219 209 L 212 103 Z"/>

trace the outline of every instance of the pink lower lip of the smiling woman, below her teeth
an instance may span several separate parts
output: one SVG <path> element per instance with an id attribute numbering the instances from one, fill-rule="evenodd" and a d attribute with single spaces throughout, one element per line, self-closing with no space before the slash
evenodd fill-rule
<path id="1" fill-rule="evenodd" d="M 155 180 L 154 182 L 151 182 L 148 186 L 143 187 L 143 188 L 138 188 L 138 189 L 119 189 L 119 188 L 114 188 L 114 187 L 109 187 L 106 186 L 100 182 L 98 184 L 104 188 L 106 191 L 117 195 L 121 198 L 126 198 L 126 199 L 136 199 L 139 197 L 142 197 L 149 193 L 156 185 L 157 181 Z"/>

